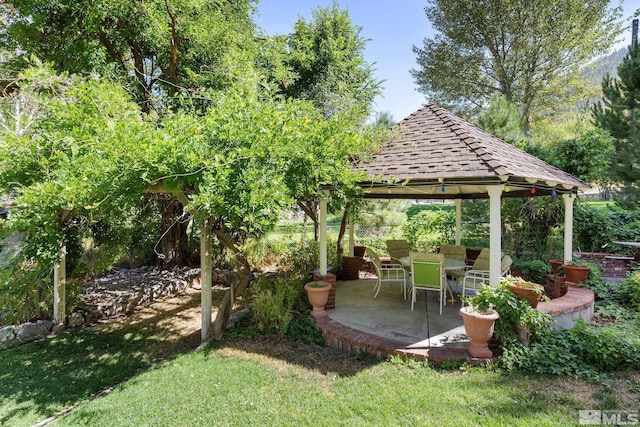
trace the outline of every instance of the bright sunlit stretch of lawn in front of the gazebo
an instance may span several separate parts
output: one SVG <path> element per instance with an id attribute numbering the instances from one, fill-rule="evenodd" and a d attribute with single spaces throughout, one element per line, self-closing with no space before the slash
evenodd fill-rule
<path id="1" fill-rule="evenodd" d="M 57 425 L 574 425 L 544 380 L 380 363 L 350 375 L 229 347 L 182 356 Z"/>

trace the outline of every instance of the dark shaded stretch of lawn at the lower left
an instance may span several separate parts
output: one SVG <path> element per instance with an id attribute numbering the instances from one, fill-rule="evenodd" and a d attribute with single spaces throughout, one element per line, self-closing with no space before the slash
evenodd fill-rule
<path id="1" fill-rule="evenodd" d="M 1 351 L 0 425 L 40 422 L 198 338 L 176 338 L 158 325 L 103 326 Z"/>

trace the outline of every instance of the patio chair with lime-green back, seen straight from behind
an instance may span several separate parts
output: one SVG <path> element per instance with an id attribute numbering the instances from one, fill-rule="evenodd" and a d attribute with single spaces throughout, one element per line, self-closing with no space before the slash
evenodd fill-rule
<path id="1" fill-rule="evenodd" d="M 416 291 L 422 289 L 440 294 L 440 314 L 445 298 L 444 254 L 411 254 L 411 311 L 416 302 Z"/>

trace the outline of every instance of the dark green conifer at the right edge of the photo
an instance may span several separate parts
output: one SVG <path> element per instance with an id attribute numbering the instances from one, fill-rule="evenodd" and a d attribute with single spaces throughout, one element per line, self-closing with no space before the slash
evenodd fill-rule
<path id="1" fill-rule="evenodd" d="M 615 138 L 611 177 L 623 186 L 614 193 L 628 208 L 640 203 L 640 45 L 629 48 L 618 67 L 618 78 L 602 81 L 602 103 L 593 107 L 596 125 Z"/>

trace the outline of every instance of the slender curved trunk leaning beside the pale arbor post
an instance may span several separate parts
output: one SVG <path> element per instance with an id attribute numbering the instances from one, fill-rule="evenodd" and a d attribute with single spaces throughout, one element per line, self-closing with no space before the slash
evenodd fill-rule
<path id="1" fill-rule="evenodd" d="M 231 252 L 235 254 L 236 260 L 238 261 L 236 266 L 237 276 L 231 283 L 231 287 L 225 292 L 224 297 L 222 297 L 222 301 L 218 307 L 218 314 L 216 314 L 216 318 L 211 324 L 211 336 L 219 340 L 227 329 L 227 322 L 231 317 L 235 298 L 238 295 L 242 295 L 247 289 L 247 286 L 249 286 L 251 266 L 244 252 L 238 249 L 237 243 L 229 233 L 221 228 L 216 228 L 211 231 L 216 235 L 222 246 L 229 248 Z"/>

